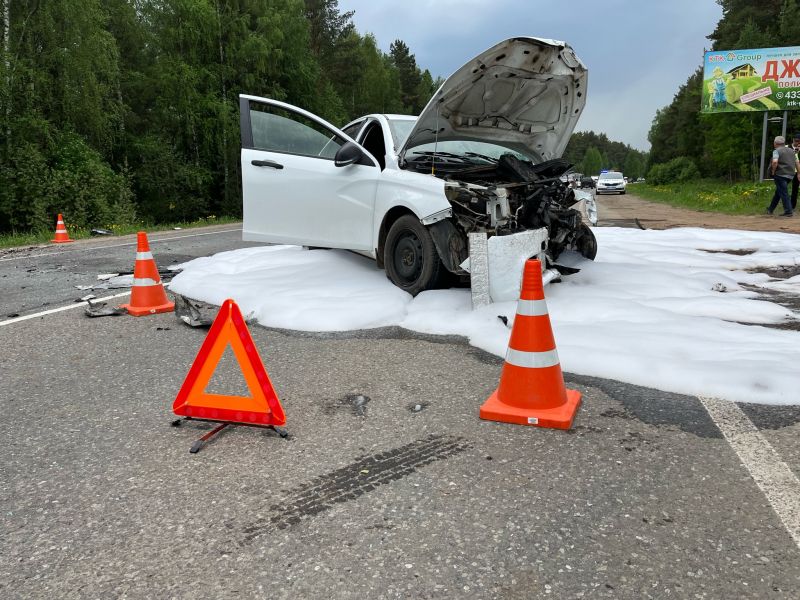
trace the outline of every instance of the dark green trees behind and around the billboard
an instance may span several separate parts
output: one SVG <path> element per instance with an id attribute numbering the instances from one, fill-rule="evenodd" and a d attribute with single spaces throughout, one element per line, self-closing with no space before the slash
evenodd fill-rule
<path id="1" fill-rule="evenodd" d="M 717 3 L 722 7 L 722 18 L 708 36 L 712 50 L 800 45 L 798 0 Z M 648 181 L 758 177 L 763 113 L 700 114 L 702 83 L 701 67 L 680 87 L 672 103 L 656 114 L 648 136 L 652 147 L 647 164 L 655 177 L 648 176 Z M 790 111 L 789 135 L 798 130 L 800 117 Z"/>

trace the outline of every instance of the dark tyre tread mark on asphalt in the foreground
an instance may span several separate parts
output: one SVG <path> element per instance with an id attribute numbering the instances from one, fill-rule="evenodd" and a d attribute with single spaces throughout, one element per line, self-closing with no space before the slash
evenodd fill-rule
<path id="1" fill-rule="evenodd" d="M 407 477 L 425 465 L 470 447 L 469 442 L 460 437 L 431 435 L 399 448 L 360 457 L 346 467 L 290 490 L 279 504 L 270 507 L 272 516 L 259 519 L 244 529 L 243 544 L 260 535 L 286 529 L 335 504 L 355 500 L 379 486 Z"/>

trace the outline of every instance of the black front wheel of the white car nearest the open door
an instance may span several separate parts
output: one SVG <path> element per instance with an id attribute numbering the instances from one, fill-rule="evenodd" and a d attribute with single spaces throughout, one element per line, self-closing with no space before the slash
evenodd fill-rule
<path id="1" fill-rule="evenodd" d="M 412 296 L 435 288 L 446 271 L 428 229 L 403 215 L 386 236 L 383 265 L 391 282 Z"/>

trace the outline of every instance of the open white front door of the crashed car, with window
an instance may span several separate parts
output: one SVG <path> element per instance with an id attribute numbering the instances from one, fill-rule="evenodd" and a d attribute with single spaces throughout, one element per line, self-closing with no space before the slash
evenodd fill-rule
<path id="1" fill-rule="evenodd" d="M 372 251 L 375 159 L 325 120 L 300 108 L 239 97 L 242 238 Z"/>

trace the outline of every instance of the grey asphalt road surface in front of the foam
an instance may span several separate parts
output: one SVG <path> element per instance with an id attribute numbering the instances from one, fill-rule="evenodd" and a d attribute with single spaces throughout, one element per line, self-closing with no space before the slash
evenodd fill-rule
<path id="1" fill-rule="evenodd" d="M 129 241 L 0 256 L 0 317 L 71 305 Z M 243 246 L 151 242 L 159 266 Z M 193 455 L 211 426 L 171 406 L 205 332 L 0 320 L 0 597 L 800 597 L 800 407 L 567 374 L 570 432 L 504 425 L 477 416 L 502 362 L 462 339 L 251 332 L 290 436 L 228 428 Z M 226 357 L 209 391 L 241 379 Z"/>

